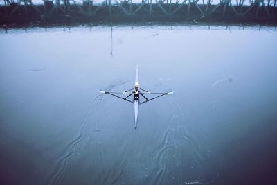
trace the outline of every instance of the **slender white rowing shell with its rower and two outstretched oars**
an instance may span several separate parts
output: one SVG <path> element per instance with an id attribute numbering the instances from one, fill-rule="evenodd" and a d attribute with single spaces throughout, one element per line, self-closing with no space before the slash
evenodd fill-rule
<path id="1" fill-rule="evenodd" d="M 134 87 L 132 89 L 129 89 L 127 91 L 123 91 L 123 92 L 113 92 L 113 91 L 99 91 L 100 93 L 103 94 L 110 94 L 111 96 L 115 96 L 116 98 L 120 98 L 122 100 L 126 100 L 129 103 L 134 103 L 134 123 L 135 123 L 135 129 L 136 129 L 136 123 L 138 121 L 138 115 L 139 115 L 139 105 L 143 104 L 143 103 L 147 103 L 150 100 L 154 100 L 156 98 L 159 98 L 161 96 L 165 96 L 168 94 L 173 94 L 172 91 L 170 92 L 150 92 L 150 91 L 146 91 L 142 88 L 139 87 L 139 68 L 136 66 L 136 78 L 134 81 Z M 116 94 L 128 94 L 126 97 L 120 97 L 117 96 Z M 159 94 L 158 96 L 155 96 L 154 98 L 147 98 L 144 94 Z M 130 96 L 133 96 L 133 100 L 128 100 L 127 98 L 129 98 Z M 144 98 L 143 102 L 140 102 L 140 97 L 142 96 Z"/>

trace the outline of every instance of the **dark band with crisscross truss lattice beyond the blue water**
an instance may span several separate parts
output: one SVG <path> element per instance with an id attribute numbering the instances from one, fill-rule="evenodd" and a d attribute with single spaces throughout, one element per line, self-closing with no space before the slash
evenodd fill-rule
<path id="1" fill-rule="evenodd" d="M 1 24 L 97 21 L 277 23 L 277 0 L 3 0 Z"/>

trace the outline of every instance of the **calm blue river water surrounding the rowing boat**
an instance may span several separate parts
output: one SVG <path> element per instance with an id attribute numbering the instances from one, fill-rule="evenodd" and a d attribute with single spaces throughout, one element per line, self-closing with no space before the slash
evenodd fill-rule
<path id="1" fill-rule="evenodd" d="M 0 34 L 1 184 L 275 184 L 271 27 Z M 141 105 L 101 90 L 175 91 Z"/>

